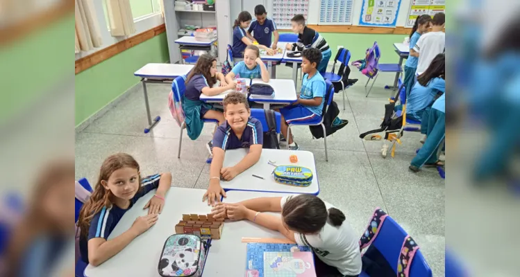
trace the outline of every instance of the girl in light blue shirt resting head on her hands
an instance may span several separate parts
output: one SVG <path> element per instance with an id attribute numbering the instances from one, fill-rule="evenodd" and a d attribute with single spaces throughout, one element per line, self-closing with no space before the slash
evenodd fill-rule
<path id="1" fill-rule="evenodd" d="M 262 78 L 262 81 L 269 82 L 269 71 L 264 62 L 260 60 L 260 50 L 255 45 L 248 45 L 244 51 L 244 60 L 233 66 L 228 75 L 226 82 L 233 82 L 233 78 Z"/>

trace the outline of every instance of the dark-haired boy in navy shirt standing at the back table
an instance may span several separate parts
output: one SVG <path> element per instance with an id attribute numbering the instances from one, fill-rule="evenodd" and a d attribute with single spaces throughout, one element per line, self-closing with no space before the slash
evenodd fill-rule
<path id="1" fill-rule="evenodd" d="M 256 19 L 251 21 L 251 25 L 247 30 L 247 37 L 253 42 L 256 41 L 260 45 L 265 45 L 276 50 L 276 44 L 278 44 L 280 35 L 278 35 L 278 28 L 276 28 L 274 21 L 267 17 L 264 6 L 258 5 L 255 7 L 255 17 Z M 253 36 L 251 36 L 251 32 Z M 274 42 L 271 46 L 272 35 L 274 35 Z"/>

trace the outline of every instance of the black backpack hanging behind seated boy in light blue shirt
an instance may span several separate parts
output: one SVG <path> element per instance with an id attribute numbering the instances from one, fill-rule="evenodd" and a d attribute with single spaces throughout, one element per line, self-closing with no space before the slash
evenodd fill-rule
<path id="1" fill-rule="evenodd" d="M 330 96 L 330 93 L 333 93 L 334 89 L 330 86 L 327 89 L 327 93 L 325 94 L 325 100 L 327 100 Z M 321 114 L 324 115 L 324 125 L 326 135 L 334 134 L 337 130 L 342 129 L 347 124 L 349 124 L 349 120 L 339 119 L 337 116 L 339 115 L 339 109 L 337 108 L 336 102 L 330 102 L 328 109 L 326 109 L 326 102 L 324 103 L 324 109 Z M 325 112 L 326 111 L 326 112 Z M 337 118 L 337 119 L 336 119 Z M 321 125 L 313 125 L 309 126 L 310 132 L 312 136 L 316 139 L 321 139 L 324 137 L 324 130 Z"/>

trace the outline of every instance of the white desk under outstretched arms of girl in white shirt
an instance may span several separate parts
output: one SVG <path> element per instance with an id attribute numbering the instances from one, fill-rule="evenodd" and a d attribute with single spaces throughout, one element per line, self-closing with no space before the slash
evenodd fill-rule
<path id="1" fill-rule="evenodd" d="M 229 191 L 224 202 L 235 203 L 256 197 L 284 197 L 290 193 L 258 193 L 252 191 Z M 269 213 L 280 216 L 280 213 Z M 285 238 L 278 231 L 240 220 L 226 220 L 220 240 L 212 240 L 203 276 L 244 276 L 246 273 L 247 243 L 242 238 Z"/>

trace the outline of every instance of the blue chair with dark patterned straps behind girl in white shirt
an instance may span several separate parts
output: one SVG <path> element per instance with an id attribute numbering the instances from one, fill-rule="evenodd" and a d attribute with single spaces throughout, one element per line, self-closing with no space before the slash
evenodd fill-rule
<path id="1" fill-rule="evenodd" d="M 387 216 L 383 226 L 371 244 L 371 247 L 376 247 L 383 255 L 388 264 L 394 269 L 397 276 L 397 263 L 399 255 L 401 254 L 401 247 L 408 233 L 395 222 L 395 220 Z M 410 277 L 431 277 L 432 270 L 424 259 L 421 249 L 415 252 L 412 265 L 410 265 Z M 360 277 L 369 277 L 364 271 L 361 272 Z"/>

